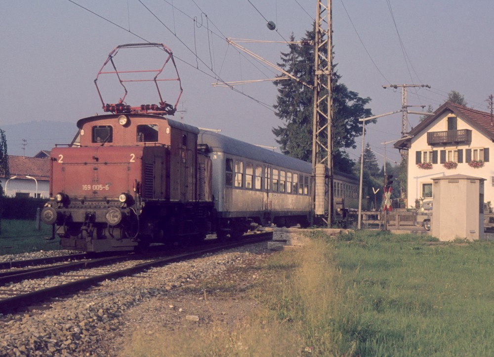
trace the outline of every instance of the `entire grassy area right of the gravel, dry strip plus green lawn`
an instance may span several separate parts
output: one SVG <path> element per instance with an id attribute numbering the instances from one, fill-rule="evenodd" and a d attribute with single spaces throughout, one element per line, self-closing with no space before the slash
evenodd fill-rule
<path id="1" fill-rule="evenodd" d="M 197 356 L 493 356 L 494 244 L 434 240 L 357 232 L 275 254 L 247 294 L 256 313 L 229 333 L 215 326 Z M 145 346 L 133 356 L 163 353 Z"/>

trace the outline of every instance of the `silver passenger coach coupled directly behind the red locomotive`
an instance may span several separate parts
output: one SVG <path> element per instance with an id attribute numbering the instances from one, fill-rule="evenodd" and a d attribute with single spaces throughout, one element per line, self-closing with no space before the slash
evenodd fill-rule
<path id="1" fill-rule="evenodd" d="M 263 225 L 308 225 L 310 163 L 201 130 L 198 147 L 206 145 L 220 235 L 227 227 L 244 231 L 247 220 Z"/>

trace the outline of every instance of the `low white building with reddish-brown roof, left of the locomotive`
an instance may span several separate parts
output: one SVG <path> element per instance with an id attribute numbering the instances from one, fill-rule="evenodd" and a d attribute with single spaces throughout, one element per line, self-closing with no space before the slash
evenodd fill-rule
<path id="1" fill-rule="evenodd" d="M 8 168 L 10 177 L 0 177 L 5 196 L 49 197 L 49 156 L 37 158 L 9 155 Z"/>

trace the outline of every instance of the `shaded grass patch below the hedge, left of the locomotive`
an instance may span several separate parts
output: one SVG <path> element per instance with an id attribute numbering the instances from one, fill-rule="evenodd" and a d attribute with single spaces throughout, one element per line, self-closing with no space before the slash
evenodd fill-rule
<path id="1" fill-rule="evenodd" d="M 44 237 L 51 237 L 51 226 L 41 223 L 38 230 L 35 221 L 1 220 L 0 254 L 60 249 L 59 239 Z"/>

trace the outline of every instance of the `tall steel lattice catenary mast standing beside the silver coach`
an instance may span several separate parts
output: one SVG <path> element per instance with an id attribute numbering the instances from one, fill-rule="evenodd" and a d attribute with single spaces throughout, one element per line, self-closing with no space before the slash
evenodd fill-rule
<path id="1" fill-rule="evenodd" d="M 328 226 L 333 221 L 332 160 L 332 25 L 331 0 L 318 0 L 316 14 L 315 77 L 312 126 L 312 170 L 314 215 Z M 323 28 L 324 25 L 326 28 Z"/>

